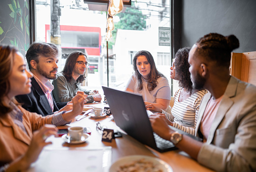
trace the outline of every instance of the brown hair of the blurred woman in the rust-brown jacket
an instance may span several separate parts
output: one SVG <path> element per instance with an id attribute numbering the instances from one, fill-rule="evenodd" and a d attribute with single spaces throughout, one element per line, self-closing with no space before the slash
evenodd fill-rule
<path id="1" fill-rule="evenodd" d="M 18 52 L 13 46 L 0 45 L 0 109 L 2 114 L 12 111 L 12 107 L 6 104 L 5 97 L 10 91 L 9 78 L 12 74 L 15 53 Z M 12 100 L 17 103 L 15 98 Z"/>

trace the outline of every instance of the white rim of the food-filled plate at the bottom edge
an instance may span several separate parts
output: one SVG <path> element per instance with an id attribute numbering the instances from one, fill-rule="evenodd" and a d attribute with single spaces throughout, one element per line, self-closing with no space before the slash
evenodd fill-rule
<path id="1" fill-rule="evenodd" d="M 146 161 L 153 162 L 153 165 L 159 165 L 162 168 L 163 172 L 173 172 L 172 167 L 167 164 L 165 161 L 151 157 L 151 156 L 144 156 L 144 155 L 131 155 L 131 156 L 124 156 L 117 161 L 115 161 L 109 168 L 109 172 L 116 172 L 118 167 L 124 164 L 128 164 L 137 160 L 144 158 Z"/>

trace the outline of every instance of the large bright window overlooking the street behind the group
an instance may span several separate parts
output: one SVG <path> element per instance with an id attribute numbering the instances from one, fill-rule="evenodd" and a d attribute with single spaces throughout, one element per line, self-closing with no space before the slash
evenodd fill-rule
<path id="1" fill-rule="evenodd" d="M 91 11 L 83 1 L 59 2 L 62 51 L 59 72 L 68 54 L 80 50 L 87 54 L 90 63 L 84 85 L 106 86 L 106 12 Z M 36 0 L 36 41 L 50 42 L 51 15 L 51 0 Z M 110 87 L 124 89 L 133 73 L 133 57 L 139 50 L 148 50 L 157 69 L 169 79 L 170 46 L 159 45 L 159 27 L 169 28 L 169 19 L 169 1 L 162 0 L 132 2 L 131 7 L 114 16 L 115 29 L 108 42 Z"/>

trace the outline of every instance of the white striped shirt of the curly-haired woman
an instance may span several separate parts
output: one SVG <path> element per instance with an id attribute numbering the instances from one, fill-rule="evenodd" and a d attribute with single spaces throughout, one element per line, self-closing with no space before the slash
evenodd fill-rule
<path id="1" fill-rule="evenodd" d="M 168 120 L 173 122 L 173 127 L 195 135 L 195 127 L 200 102 L 204 94 L 207 93 L 207 90 L 202 89 L 197 91 L 186 100 L 179 102 L 181 90 L 182 88 L 175 93 L 172 114 L 169 114 L 164 110 L 162 110 L 162 113 L 165 114 Z"/>

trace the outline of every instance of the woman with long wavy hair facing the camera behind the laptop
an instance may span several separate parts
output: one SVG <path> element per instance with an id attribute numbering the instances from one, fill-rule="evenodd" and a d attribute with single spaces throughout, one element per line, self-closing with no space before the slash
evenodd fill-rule
<path id="1" fill-rule="evenodd" d="M 153 56 L 146 50 L 137 52 L 133 59 L 135 74 L 126 85 L 126 91 L 142 94 L 145 105 L 167 109 L 170 103 L 168 80 L 158 72 Z"/>

